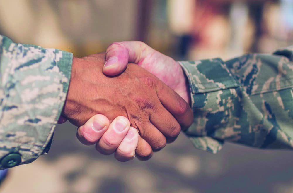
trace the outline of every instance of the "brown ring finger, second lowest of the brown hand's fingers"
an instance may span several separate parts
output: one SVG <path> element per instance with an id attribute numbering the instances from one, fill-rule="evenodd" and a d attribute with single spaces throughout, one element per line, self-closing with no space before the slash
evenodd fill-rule
<path id="1" fill-rule="evenodd" d="M 166 146 L 166 137 L 150 122 L 138 124 L 140 136 L 148 142 L 153 151 L 159 151 Z"/>

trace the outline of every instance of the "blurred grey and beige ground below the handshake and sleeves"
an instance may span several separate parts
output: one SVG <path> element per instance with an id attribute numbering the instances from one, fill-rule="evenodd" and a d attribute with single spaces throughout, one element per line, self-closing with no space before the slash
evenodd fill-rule
<path id="1" fill-rule="evenodd" d="M 120 163 L 86 147 L 69 123 L 48 155 L 10 170 L 0 192 L 293 192 L 293 152 L 226 143 L 212 155 L 181 134 L 149 161 Z"/>

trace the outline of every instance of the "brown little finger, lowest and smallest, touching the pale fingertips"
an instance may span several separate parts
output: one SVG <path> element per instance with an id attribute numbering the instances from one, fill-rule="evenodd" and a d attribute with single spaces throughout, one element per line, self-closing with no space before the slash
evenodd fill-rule
<path id="1" fill-rule="evenodd" d="M 138 144 L 135 149 L 136 157 L 141 161 L 146 161 L 153 156 L 153 150 L 146 140 L 139 136 Z"/>

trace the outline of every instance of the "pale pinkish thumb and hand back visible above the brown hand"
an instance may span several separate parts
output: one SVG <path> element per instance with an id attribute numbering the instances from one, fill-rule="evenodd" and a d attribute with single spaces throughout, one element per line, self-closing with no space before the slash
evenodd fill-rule
<path id="1" fill-rule="evenodd" d="M 135 63 L 146 69 L 191 104 L 190 89 L 178 62 L 147 44 L 139 41 L 125 41 L 111 44 L 106 51 L 103 73 L 109 76 L 123 72 L 128 63 Z"/>

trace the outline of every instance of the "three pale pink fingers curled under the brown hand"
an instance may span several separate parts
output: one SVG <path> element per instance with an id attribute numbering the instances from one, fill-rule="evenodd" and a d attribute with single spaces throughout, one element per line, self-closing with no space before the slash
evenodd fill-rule
<path id="1" fill-rule="evenodd" d="M 126 129 L 120 132 L 117 125 L 126 125 Z M 115 158 L 123 162 L 134 158 L 139 140 L 137 130 L 130 127 L 126 117 L 118 116 L 109 125 L 108 118 L 101 114 L 94 115 L 80 126 L 76 136 L 85 145 L 96 144 L 101 154 L 108 155 L 115 151 Z"/>

